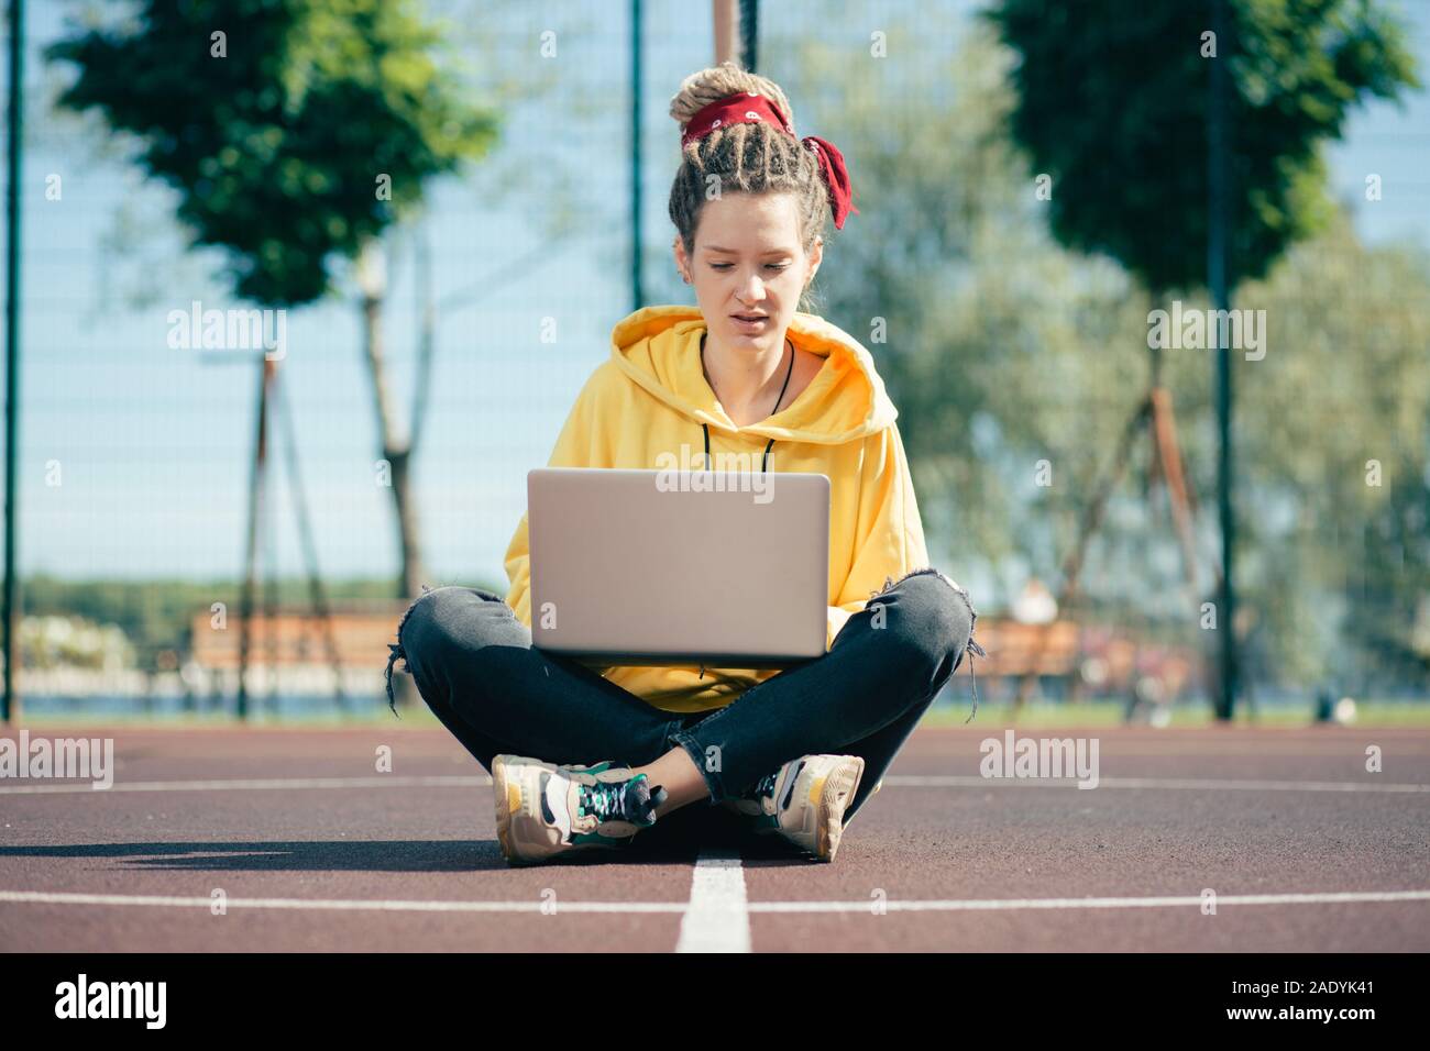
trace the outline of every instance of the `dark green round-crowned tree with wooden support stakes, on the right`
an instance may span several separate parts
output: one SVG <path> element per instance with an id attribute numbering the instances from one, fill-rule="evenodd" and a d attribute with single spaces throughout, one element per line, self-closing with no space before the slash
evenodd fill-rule
<path id="1" fill-rule="evenodd" d="M 1032 170 L 1048 180 L 1054 235 L 1070 247 L 1117 259 L 1157 303 L 1208 282 L 1214 297 L 1230 302 L 1238 282 L 1266 276 L 1288 245 L 1328 217 L 1323 140 L 1338 137 L 1348 109 L 1363 97 L 1396 97 L 1419 83 L 1401 27 L 1370 0 L 1094 0 L 1077 9 L 1000 0 L 987 17 L 1018 56 L 1011 130 Z M 1221 70 L 1228 89 L 1217 110 L 1213 76 Z M 1208 132 L 1224 127 L 1230 136 L 1217 152 Z M 1224 160 L 1228 189 L 1218 189 L 1214 166 L 1203 160 L 1208 152 Z M 1217 285 L 1207 266 L 1208 249 L 1220 245 L 1214 220 L 1221 219 L 1226 275 Z M 1151 388 L 1128 435 L 1143 423 L 1151 429 L 1195 586 L 1163 347 L 1148 343 Z M 1064 592 L 1075 588 L 1087 538 L 1127 449 L 1124 442 L 1093 493 Z M 1230 526 L 1227 532 L 1230 545 Z M 1228 581 L 1228 605 L 1231 595 Z M 1228 619 L 1230 608 L 1218 612 Z M 1230 673 L 1236 625 L 1218 636 Z M 1220 696 L 1223 718 L 1231 702 Z"/>

